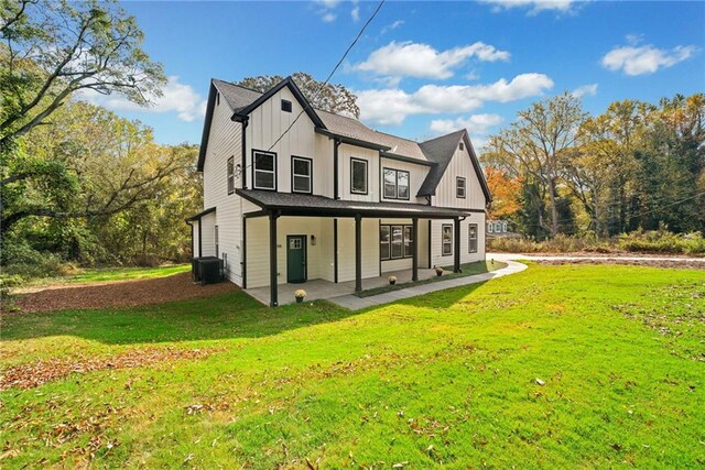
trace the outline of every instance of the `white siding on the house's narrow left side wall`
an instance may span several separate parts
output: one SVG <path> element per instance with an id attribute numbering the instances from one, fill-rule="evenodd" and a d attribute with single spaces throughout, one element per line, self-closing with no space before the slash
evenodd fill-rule
<path id="1" fill-rule="evenodd" d="M 241 285 L 242 203 L 235 193 L 228 195 L 227 162 L 232 156 L 235 165 L 240 163 L 242 124 L 230 119 L 232 109 L 225 99 L 218 101 L 214 107 L 203 170 L 204 209 L 215 207 L 216 211 L 202 220 L 203 254 L 216 254 L 215 226 L 218 226 L 218 256 L 223 259 L 225 254 L 227 258 L 226 277 Z M 236 177 L 235 187 L 239 186 L 240 181 Z"/>

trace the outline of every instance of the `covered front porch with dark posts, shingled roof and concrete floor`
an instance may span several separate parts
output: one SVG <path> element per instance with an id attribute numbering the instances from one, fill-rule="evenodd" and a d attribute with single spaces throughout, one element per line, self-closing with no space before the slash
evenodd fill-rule
<path id="1" fill-rule="evenodd" d="M 362 265 L 362 254 L 365 250 L 371 250 L 372 248 L 369 245 L 364 245 L 364 232 L 362 232 L 362 220 L 364 219 L 387 219 L 387 218 L 395 218 L 395 219 L 406 219 L 411 221 L 411 233 L 412 233 L 412 256 L 411 256 L 411 269 L 402 270 L 399 272 L 398 282 L 409 282 L 409 281 L 419 281 L 420 278 L 425 278 L 432 275 L 435 275 L 433 270 L 431 269 L 421 269 L 420 267 L 420 255 L 419 255 L 419 221 L 424 219 L 443 219 L 443 220 L 452 220 L 455 226 L 454 230 L 454 272 L 460 272 L 460 221 L 468 217 L 475 210 L 473 209 L 460 209 L 460 208 L 446 208 L 446 207 L 433 207 L 429 205 L 422 204 L 401 204 L 401 203 L 368 203 L 368 201 L 350 201 L 350 200 L 339 200 L 332 199 L 323 196 L 314 196 L 314 195 L 301 195 L 301 194 L 290 194 L 290 193 L 274 193 L 274 192 L 264 192 L 264 190 L 254 190 L 254 189 L 237 189 L 237 193 L 254 204 L 260 208 L 260 210 L 254 210 L 250 212 L 246 212 L 245 217 L 245 227 L 248 232 L 247 227 L 250 226 L 248 220 L 259 219 L 260 222 L 258 230 L 258 239 L 261 243 L 258 249 L 258 254 L 264 255 L 268 252 L 269 255 L 269 284 L 264 284 L 263 278 L 260 277 L 259 286 L 248 288 L 247 278 L 248 278 L 248 263 L 247 263 L 247 251 L 248 247 L 246 243 L 245 253 L 245 263 L 243 263 L 243 287 L 246 292 L 253 295 L 256 298 L 269 303 L 270 306 L 278 306 L 280 304 L 280 291 L 282 291 L 283 302 L 282 303 L 291 303 L 295 302 L 293 292 L 297 288 L 304 288 L 307 293 L 306 300 L 315 299 L 315 298 L 330 298 L 335 296 L 350 294 L 352 292 L 360 292 L 365 288 L 378 287 L 381 285 L 386 285 L 388 283 L 389 275 L 393 273 L 386 272 L 383 274 L 379 271 L 373 271 L 378 275 L 370 275 L 370 264 L 367 262 L 365 264 L 366 271 Z M 285 218 L 327 218 L 328 220 L 333 220 L 334 222 L 334 242 L 330 247 L 330 256 L 333 259 L 333 265 L 335 271 L 335 276 L 333 278 L 334 282 L 324 281 L 319 278 L 306 280 L 304 283 L 281 283 L 280 284 L 280 270 L 282 266 L 279 265 L 281 260 L 278 260 L 278 248 L 281 248 L 281 233 L 278 233 L 279 219 L 281 217 Z M 262 223 L 262 219 L 267 220 L 267 229 L 264 229 L 264 233 L 262 233 L 262 229 L 264 225 Z M 349 231 L 354 232 L 354 247 L 348 248 L 346 251 L 338 250 L 338 234 L 337 234 L 337 220 L 351 220 L 349 223 Z M 268 232 L 268 233 L 267 233 Z M 348 232 L 349 233 L 349 232 Z M 366 231 L 366 233 L 368 233 Z M 267 234 L 269 238 L 269 243 L 264 243 L 262 240 L 262 234 Z M 286 234 L 289 234 L 286 232 Z M 246 237 L 247 240 L 247 237 Z M 368 241 L 369 242 L 369 237 Z M 354 252 L 354 253 L 350 253 Z M 340 281 L 338 282 L 338 258 L 343 255 L 349 255 L 350 258 L 350 271 L 352 271 L 352 255 L 354 255 L 354 272 L 355 277 L 354 281 Z M 261 266 L 261 263 L 258 264 Z M 254 266 L 252 266 L 254 267 Z M 264 266 L 262 266 L 264 267 Z M 284 266 L 285 267 L 285 266 Z M 432 267 L 432 266 L 429 266 Z M 367 273 L 366 275 L 364 275 Z M 260 275 L 264 274 L 260 272 Z M 351 274 L 351 272 L 350 272 Z M 394 274 L 395 275 L 395 274 Z M 423 276 L 423 277 L 422 277 Z M 350 278 L 351 275 L 348 277 Z M 330 278 L 330 277 L 329 277 Z M 289 281 L 289 280 L 288 280 Z M 256 284 L 257 285 L 257 284 Z"/>

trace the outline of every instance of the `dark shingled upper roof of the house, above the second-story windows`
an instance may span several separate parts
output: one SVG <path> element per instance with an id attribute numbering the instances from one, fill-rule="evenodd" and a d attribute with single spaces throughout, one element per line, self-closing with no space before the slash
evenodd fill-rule
<path id="1" fill-rule="evenodd" d="M 290 80 L 293 84 L 293 80 L 291 80 L 291 78 L 286 78 L 284 81 L 279 84 L 278 87 L 284 85 L 286 80 Z M 232 109 L 234 114 L 238 114 L 241 112 L 247 113 L 251 111 L 251 106 L 263 95 L 259 91 L 243 88 L 229 81 L 218 80 L 216 78 L 214 78 L 212 83 L 213 86 L 225 98 L 228 106 Z M 293 86 L 295 87 L 295 84 L 293 84 Z M 296 91 L 299 91 L 297 88 Z M 213 97 L 209 97 L 209 108 L 212 106 L 212 99 Z M 473 150 L 473 146 L 469 142 L 469 136 L 467 135 L 467 132 L 465 130 L 456 131 L 452 134 L 443 135 L 426 142 L 417 143 L 409 139 L 378 132 L 373 129 L 368 128 L 355 118 L 335 114 L 333 112 L 323 111 L 321 109 L 313 110 L 311 108 L 311 110 L 312 112 L 310 113 L 310 116 L 313 114 L 314 122 L 318 121 L 318 119 L 316 118 L 319 118 L 317 125 L 322 123 L 325 127 L 324 132 L 326 132 L 328 135 L 334 134 L 341 138 L 351 139 L 352 141 L 362 141 L 376 144 L 381 147 L 389 149 L 387 151 L 387 153 L 389 154 L 400 155 L 402 157 L 409 157 L 411 160 L 417 160 L 426 165 L 431 165 L 429 174 L 421 185 L 417 196 L 432 196 L 435 194 L 436 187 L 438 186 L 438 183 L 441 183 L 441 178 L 443 177 L 448 163 L 455 154 L 455 149 L 457 147 L 460 139 L 465 139 L 468 151 L 470 152 L 470 159 L 473 160 L 473 166 L 475 167 L 476 172 L 478 172 L 478 179 L 480 182 L 480 185 L 482 186 L 482 192 L 485 193 L 488 201 L 491 199 L 487 183 L 485 182 L 485 177 L 479 166 L 479 162 L 477 161 L 475 151 Z M 205 157 L 205 145 L 207 143 L 207 130 L 209 130 L 210 114 L 212 113 L 208 112 L 206 114 L 206 125 L 204 128 L 204 138 L 200 145 L 202 155 L 198 162 L 199 168 L 203 168 L 203 159 Z"/>

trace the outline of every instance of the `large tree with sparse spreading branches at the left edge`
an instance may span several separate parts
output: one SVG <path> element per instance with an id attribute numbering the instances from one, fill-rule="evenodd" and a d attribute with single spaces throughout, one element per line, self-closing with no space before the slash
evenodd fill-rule
<path id="1" fill-rule="evenodd" d="M 80 174 L 66 160 L 34 154 L 34 145 L 22 140 L 50 124 L 48 117 L 77 91 L 118 92 L 140 105 L 159 96 L 162 67 L 141 50 L 134 18 L 97 0 L 9 0 L 0 8 L 0 233 L 29 216 L 115 214 L 147 197 L 144 189 L 165 177 L 171 164 L 142 174 L 135 168 L 101 203 L 89 198 L 77 207 Z"/>

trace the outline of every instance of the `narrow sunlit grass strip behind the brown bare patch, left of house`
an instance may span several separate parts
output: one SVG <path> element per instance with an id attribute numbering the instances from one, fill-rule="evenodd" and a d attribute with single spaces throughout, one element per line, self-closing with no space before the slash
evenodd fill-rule
<path id="1" fill-rule="evenodd" d="M 108 267 L 86 269 L 77 274 L 65 277 L 50 277 L 32 282 L 32 285 L 47 284 L 87 284 L 95 282 L 117 282 L 150 280 L 184 273 L 191 270 L 191 264 L 167 264 L 156 267 Z"/>

